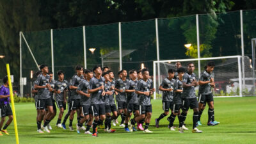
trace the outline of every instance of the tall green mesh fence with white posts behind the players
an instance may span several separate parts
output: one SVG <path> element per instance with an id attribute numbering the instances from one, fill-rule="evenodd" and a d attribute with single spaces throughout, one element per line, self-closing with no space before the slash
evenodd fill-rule
<path id="1" fill-rule="evenodd" d="M 20 77 L 26 77 L 28 83 L 34 81 L 31 70 L 35 73 L 42 63 L 54 74 L 63 70 L 70 79 L 77 64 L 84 68 L 107 65 L 117 72 L 122 68 L 140 69 L 143 63 L 152 74 L 154 60 L 251 56 L 255 19 L 256 10 L 241 10 L 20 32 Z M 20 84 L 20 93 L 30 93 L 29 84 Z"/>

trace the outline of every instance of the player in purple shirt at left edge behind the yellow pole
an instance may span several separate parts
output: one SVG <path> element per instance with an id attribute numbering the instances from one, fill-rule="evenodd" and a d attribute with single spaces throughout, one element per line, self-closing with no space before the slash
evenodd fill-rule
<path id="1" fill-rule="evenodd" d="M 0 109 L 1 109 L 0 136 L 3 136 L 2 132 L 9 135 L 6 129 L 13 120 L 12 108 L 10 107 L 10 90 L 9 90 L 8 76 L 5 76 L 3 78 L 3 83 L 4 83 L 3 86 L 0 87 Z M 3 127 L 6 116 L 8 116 L 8 121 L 5 123 Z"/>

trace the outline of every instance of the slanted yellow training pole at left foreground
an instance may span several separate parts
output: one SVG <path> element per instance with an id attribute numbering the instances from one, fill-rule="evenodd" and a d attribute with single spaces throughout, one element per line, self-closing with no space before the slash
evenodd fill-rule
<path id="1" fill-rule="evenodd" d="M 12 80 L 11 80 L 9 63 L 6 64 L 6 69 L 7 69 L 8 83 L 9 83 L 9 89 L 10 89 L 10 95 L 11 95 L 10 97 L 11 97 L 11 102 L 12 102 L 12 112 L 13 112 L 13 122 L 14 122 L 16 143 L 19 144 L 19 136 L 18 136 L 18 129 L 17 129 L 17 121 L 16 121 L 14 100 L 13 100 Z"/>

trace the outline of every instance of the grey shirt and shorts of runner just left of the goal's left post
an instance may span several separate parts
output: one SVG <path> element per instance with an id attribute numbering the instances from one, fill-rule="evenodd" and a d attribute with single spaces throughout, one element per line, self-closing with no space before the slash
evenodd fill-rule
<path id="1" fill-rule="evenodd" d="M 139 81 L 139 83 L 137 84 L 137 88 L 136 91 L 140 91 L 140 92 L 149 92 L 150 89 L 153 88 L 153 85 L 150 83 L 149 80 L 144 81 L 143 79 L 141 79 Z M 139 95 L 140 97 L 140 105 L 141 106 L 148 106 L 150 105 L 150 95 Z"/>

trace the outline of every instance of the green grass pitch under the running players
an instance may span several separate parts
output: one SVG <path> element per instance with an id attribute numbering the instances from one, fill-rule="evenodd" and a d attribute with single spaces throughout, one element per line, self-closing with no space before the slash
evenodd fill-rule
<path id="1" fill-rule="evenodd" d="M 36 111 L 33 103 L 15 104 L 17 124 L 20 143 L 256 143 L 256 97 L 237 97 L 237 98 L 218 98 L 214 99 L 215 119 L 220 122 L 216 126 L 207 126 L 207 109 L 202 115 L 203 125 L 198 129 L 204 131 L 200 134 L 191 132 L 192 114 L 189 110 L 186 119 L 189 131 L 180 134 L 178 131 L 170 131 L 167 128 L 166 118 L 160 121 L 160 127 L 155 127 L 154 119 L 157 118 L 162 110 L 161 100 L 152 100 L 153 113 L 150 123 L 152 134 L 145 134 L 143 131 L 130 132 L 124 131 L 119 126 L 113 127 L 115 133 L 105 133 L 99 129 L 99 137 L 93 138 L 92 135 L 86 135 L 76 131 L 58 129 L 55 127 L 57 117 L 52 120 L 51 133 L 39 134 L 36 132 Z M 67 112 L 67 111 L 66 111 Z M 65 113 L 66 113 L 65 112 Z M 57 112 L 58 115 L 58 112 Z M 120 122 L 120 118 L 119 118 Z M 179 120 L 175 120 L 175 126 Z M 76 120 L 73 122 L 76 127 Z M 67 121 L 68 126 L 68 121 Z M 91 129 L 92 131 L 92 129 Z M 1 143 L 15 143 L 15 132 L 13 122 L 8 127 L 10 135 L 0 136 Z"/>

